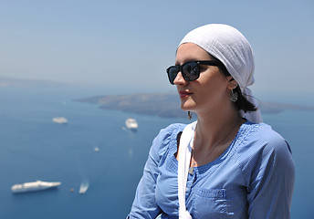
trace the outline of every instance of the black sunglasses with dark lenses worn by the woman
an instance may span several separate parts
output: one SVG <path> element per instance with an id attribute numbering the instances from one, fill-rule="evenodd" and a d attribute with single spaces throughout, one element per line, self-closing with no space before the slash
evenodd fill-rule
<path id="1" fill-rule="evenodd" d="M 182 66 L 171 66 L 167 68 L 167 74 L 170 83 L 173 85 L 174 79 L 181 71 L 184 80 L 193 81 L 200 77 L 200 65 L 206 66 L 224 66 L 220 61 L 208 60 L 208 61 L 189 61 L 184 63 Z"/>

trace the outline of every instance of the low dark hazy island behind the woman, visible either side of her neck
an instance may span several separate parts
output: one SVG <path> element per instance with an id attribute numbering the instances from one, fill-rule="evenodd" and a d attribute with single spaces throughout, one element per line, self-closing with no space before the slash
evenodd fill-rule
<path id="1" fill-rule="evenodd" d="M 163 118 L 186 118 L 186 112 L 180 109 L 180 99 L 176 93 L 136 93 L 94 96 L 74 100 L 99 104 L 99 108 L 103 110 L 121 110 Z M 259 107 L 262 113 L 279 113 L 284 110 L 314 110 L 313 107 L 266 101 L 260 102 Z"/>

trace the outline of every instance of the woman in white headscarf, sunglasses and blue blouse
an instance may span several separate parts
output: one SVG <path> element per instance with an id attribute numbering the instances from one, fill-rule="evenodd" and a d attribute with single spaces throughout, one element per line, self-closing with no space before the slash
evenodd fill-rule
<path id="1" fill-rule="evenodd" d="M 261 122 L 247 86 L 251 47 L 232 26 L 201 26 L 183 37 L 167 69 L 183 110 L 197 121 L 158 134 L 130 218 L 289 218 L 290 148 Z"/>

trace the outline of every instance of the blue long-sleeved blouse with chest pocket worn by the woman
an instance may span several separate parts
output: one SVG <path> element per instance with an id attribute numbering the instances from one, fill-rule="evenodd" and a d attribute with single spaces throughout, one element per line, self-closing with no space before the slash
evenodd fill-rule
<path id="1" fill-rule="evenodd" d="M 172 124 L 152 142 L 130 218 L 178 218 L 177 135 Z M 200 218 L 290 218 L 294 185 L 291 151 L 265 123 L 244 123 L 214 162 L 188 174 L 186 209 Z"/>

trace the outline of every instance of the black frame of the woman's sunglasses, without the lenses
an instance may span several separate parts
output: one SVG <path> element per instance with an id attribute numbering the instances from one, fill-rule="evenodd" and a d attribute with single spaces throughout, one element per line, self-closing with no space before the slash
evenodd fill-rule
<path id="1" fill-rule="evenodd" d="M 183 72 L 183 66 L 186 65 L 186 64 L 192 63 L 192 62 L 196 63 L 196 66 L 198 67 L 197 77 L 194 78 L 194 79 L 190 79 L 189 76 L 186 75 L 186 74 Z M 200 73 L 201 73 L 201 72 L 200 72 L 200 68 L 199 68 L 200 65 L 206 65 L 206 66 L 224 66 L 224 64 L 223 64 L 221 61 L 218 61 L 218 60 L 188 61 L 188 62 L 183 63 L 181 66 L 179 66 L 179 65 L 177 65 L 177 66 L 171 66 L 171 67 L 169 67 L 169 68 L 166 69 L 169 82 L 170 82 L 172 85 L 174 85 L 174 83 L 173 83 L 173 82 L 174 82 L 174 79 L 173 79 L 173 82 L 172 82 L 172 80 L 171 80 L 171 78 L 170 78 L 170 73 L 169 73 L 170 68 L 176 68 L 177 71 L 178 71 L 178 72 L 177 72 L 177 75 L 179 74 L 179 72 L 181 72 L 181 74 L 182 74 L 184 80 L 186 80 L 186 81 L 194 81 L 194 80 L 196 80 L 196 79 L 198 79 L 198 78 L 200 77 Z M 175 78 L 176 78 L 176 76 L 175 76 Z"/>

